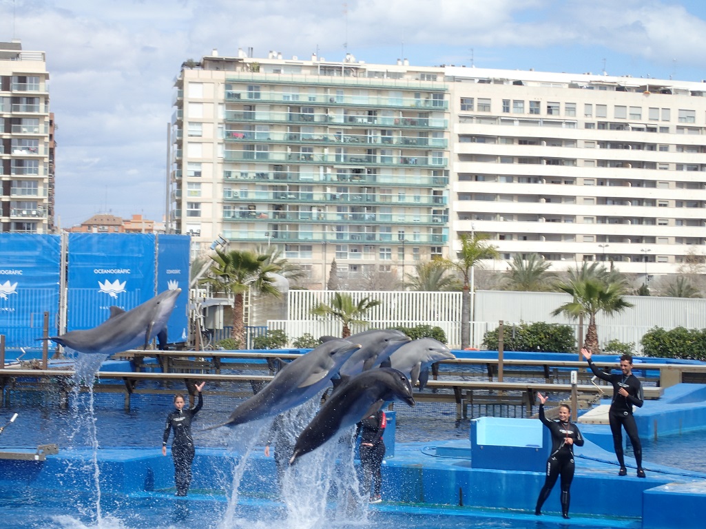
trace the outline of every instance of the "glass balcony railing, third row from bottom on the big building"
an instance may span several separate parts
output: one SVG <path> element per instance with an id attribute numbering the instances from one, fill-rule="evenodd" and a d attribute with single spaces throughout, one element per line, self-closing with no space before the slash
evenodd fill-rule
<path id="1" fill-rule="evenodd" d="M 407 194 L 328 193 L 323 191 L 242 191 L 224 189 L 223 199 L 241 203 L 365 203 L 381 206 L 445 206 L 445 196 L 409 196 Z"/>

